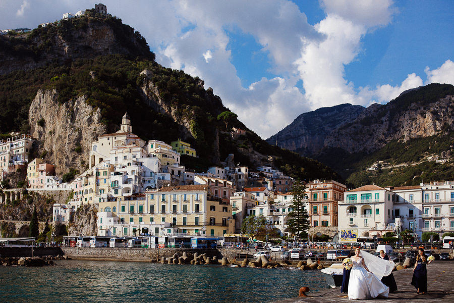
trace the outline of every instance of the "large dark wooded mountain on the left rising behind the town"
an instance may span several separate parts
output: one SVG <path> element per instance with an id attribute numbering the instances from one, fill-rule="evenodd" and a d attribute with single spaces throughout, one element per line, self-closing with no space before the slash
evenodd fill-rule
<path id="1" fill-rule="evenodd" d="M 326 165 L 272 146 L 236 118 L 204 81 L 154 61 L 145 39 L 116 17 L 85 16 L 30 33 L 0 36 L 0 131 L 37 138 L 30 157 L 56 165 L 59 175 L 83 171 L 90 143 L 119 129 L 125 112 L 142 139 L 181 138 L 199 158 L 182 156 L 189 169 L 206 171 L 224 159 L 252 168 L 273 165 L 302 179 L 340 177 Z M 231 127 L 246 130 L 233 138 Z"/>

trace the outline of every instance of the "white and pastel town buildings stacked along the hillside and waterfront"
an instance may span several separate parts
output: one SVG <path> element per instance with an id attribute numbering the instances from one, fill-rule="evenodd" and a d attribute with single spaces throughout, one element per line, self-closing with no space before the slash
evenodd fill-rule
<path id="1" fill-rule="evenodd" d="M 142 140 L 127 113 L 119 131 L 91 143 L 89 168 L 66 183 L 54 175 L 53 164 L 28 159 L 33 138 L 14 135 L 0 141 L 2 178 L 23 168 L 29 190 L 72 190 L 67 204 L 53 205 L 53 224 L 74 222 L 75 211 L 88 204 L 97 210 L 98 236 L 242 234 L 249 215 L 263 216 L 279 236 L 292 236 L 293 178 L 271 166 L 187 170 L 181 155 L 197 157 L 189 143 Z M 348 242 L 408 230 L 418 240 L 423 232 L 454 231 L 454 181 L 349 190 L 334 180 L 313 180 L 305 192 L 309 237 Z M 9 199 L 4 192 L 3 203 Z"/>

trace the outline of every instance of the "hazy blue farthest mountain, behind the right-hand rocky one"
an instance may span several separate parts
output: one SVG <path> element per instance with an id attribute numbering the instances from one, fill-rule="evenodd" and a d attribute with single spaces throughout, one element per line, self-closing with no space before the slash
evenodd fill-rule
<path id="1" fill-rule="evenodd" d="M 301 155 L 314 155 L 324 147 L 325 138 L 331 132 L 354 121 L 364 110 L 359 105 L 341 104 L 304 113 L 266 141 L 277 142 L 277 146 Z"/>

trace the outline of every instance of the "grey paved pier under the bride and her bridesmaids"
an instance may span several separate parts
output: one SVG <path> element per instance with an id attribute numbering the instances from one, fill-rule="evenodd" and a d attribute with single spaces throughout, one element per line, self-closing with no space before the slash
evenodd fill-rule
<path id="1" fill-rule="evenodd" d="M 398 285 L 398 291 L 389 293 L 387 299 L 374 299 L 374 303 L 389 302 L 452 302 L 454 297 L 454 261 L 434 261 L 427 266 L 427 289 L 426 294 L 417 294 L 416 289 L 411 285 L 413 276 L 413 266 L 411 268 L 394 271 L 394 279 Z M 300 285 L 298 285 L 300 286 Z M 305 285 L 301 285 L 303 287 Z M 298 292 L 298 290 L 297 290 Z M 293 297 L 282 299 L 276 303 L 327 303 L 327 302 L 364 302 L 366 300 L 350 300 L 347 293 L 341 293 L 341 287 L 329 288 L 318 292 L 307 292 L 307 297 Z M 297 295 L 297 293 L 296 293 Z"/>

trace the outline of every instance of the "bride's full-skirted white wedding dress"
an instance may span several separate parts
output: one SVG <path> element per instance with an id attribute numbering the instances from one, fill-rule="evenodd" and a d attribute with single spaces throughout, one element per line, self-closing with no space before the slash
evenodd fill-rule
<path id="1" fill-rule="evenodd" d="M 361 265 L 361 260 L 362 258 L 358 261 L 352 259 L 353 268 L 350 272 L 349 299 L 372 299 L 378 296 L 387 298 L 389 287 L 381 283 L 376 275 L 368 272 Z"/>

